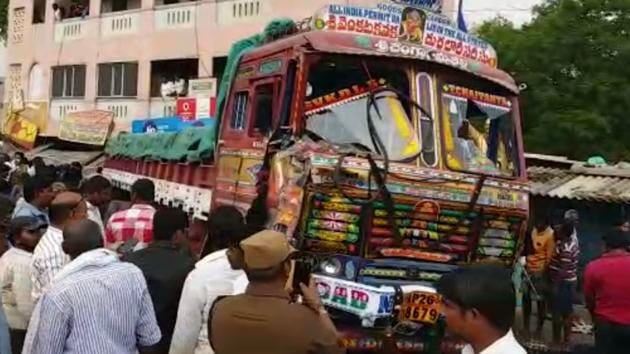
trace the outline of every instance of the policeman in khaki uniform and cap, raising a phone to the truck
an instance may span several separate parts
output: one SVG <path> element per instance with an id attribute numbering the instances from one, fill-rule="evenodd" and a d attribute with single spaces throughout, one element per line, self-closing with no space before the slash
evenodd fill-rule
<path id="1" fill-rule="evenodd" d="M 215 302 L 208 338 L 217 354 L 344 353 L 313 281 L 301 284 L 302 304 L 285 285 L 294 249 L 286 236 L 261 231 L 240 243 L 249 278 L 245 294 Z"/>

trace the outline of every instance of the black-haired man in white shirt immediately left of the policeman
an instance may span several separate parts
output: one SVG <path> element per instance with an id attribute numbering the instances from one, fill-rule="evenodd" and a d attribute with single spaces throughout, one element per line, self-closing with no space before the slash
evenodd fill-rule
<path id="1" fill-rule="evenodd" d="M 208 341 L 208 313 L 219 296 L 245 291 L 245 272 L 233 269 L 230 247 L 246 237 L 243 215 L 232 206 L 212 212 L 203 257 L 188 274 L 179 302 L 169 354 L 213 354 Z M 210 253 L 212 252 L 212 253 Z"/>

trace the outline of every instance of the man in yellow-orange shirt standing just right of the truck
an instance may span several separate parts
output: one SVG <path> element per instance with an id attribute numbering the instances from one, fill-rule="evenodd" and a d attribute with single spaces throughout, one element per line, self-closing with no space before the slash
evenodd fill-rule
<path id="1" fill-rule="evenodd" d="M 546 217 L 537 217 L 532 229 L 531 239 L 527 240 L 527 252 L 525 275 L 525 289 L 523 291 L 523 321 L 526 333 L 530 330 L 530 318 L 532 302 L 536 301 L 538 326 L 536 336 L 542 333 L 543 324 L 547 315 L 547 297 L 550 290 L 548 275 L 549 263 L 553 256 L 554 235 Z"/>

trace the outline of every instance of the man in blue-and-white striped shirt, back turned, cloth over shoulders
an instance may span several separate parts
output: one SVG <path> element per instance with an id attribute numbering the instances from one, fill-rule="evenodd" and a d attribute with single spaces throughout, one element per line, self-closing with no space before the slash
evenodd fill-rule
<path id="1" fill-rule="evenodd" d="M 66 225 L 63 239 L 72 261 L 41 296 L 23 352 L 160 353 L 160 328 L 140 269 L 102 248 L 94 221 Z"/>

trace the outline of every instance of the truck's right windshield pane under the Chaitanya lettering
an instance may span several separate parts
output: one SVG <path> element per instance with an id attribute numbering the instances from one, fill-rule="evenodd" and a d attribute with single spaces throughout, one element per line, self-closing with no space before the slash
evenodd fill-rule
<path id="1" fill-rule="evenodd" d="M 442 87 L 446 163 L 454 170 L 513 177 L 518 149 L 512 102 L 466 87 Z"/>

